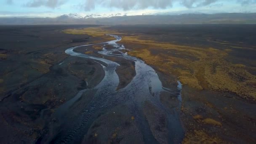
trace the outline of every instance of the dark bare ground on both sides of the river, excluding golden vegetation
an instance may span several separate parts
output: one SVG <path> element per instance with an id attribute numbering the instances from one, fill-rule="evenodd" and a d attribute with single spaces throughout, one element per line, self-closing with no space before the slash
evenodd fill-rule
<path id="1" fill-rule="evenodd" d="M 56 109 L 79 91 L 93 88 L 101 82 L 104 77 L 101 64 L 69 56 L 64 52 L 72 46 L 108 41 L 101 37 L 61 32 L 64 29 L 86 27 L 97 26 L 0 26 L 0 143 L 43 143 L 47 138 L 48 142 L 54 141 L 54 136 L 61 129 L 58 120 L 52 117 Z M 244 69 L 254 76 L 251 77 L 249 87 L 256 88 L 256 25 L 117 25 L 106 29 L 123 33 L 122 36 L 140 35 L 142 40 L 150 37 L 157 42 L 213 47 L 221 51 L 229 49 L 228 55 L 224 57 L 225 61 L 245 65 Z M 122 41 L 118 43 L 122 44 Z M 134 51 L 141 50 L 144 46 L 134 43 L 124 45 Z M 85 53 L 88 50 L 93 50 L 93 47 L 86 47 L 86 50 L 81 47 L 75 51 Z M 150 52 L 154 56 L 168 53 L 179 59 L 198 59 L 194 56 L 184 57 L 176 52 L 169 53 L 160 48 L 152 48 Z M 100 54 L 91 55 L 102 57 Z M 105 59 L 120 64 L 116 69 L 120 80 L 117 90 L 131 83 L 136 75 L 133 61 L 110 56 L 105 56 Z M 179 75 L 174 72 L 167 74 L 157 65 L 151 65 L 149 61 L 146 63 L 155 69 L 164 87 L 176 89 Z M 183 67 L 176 65 L 171 68 Z M 243 81 L 243 77 L 235 76 Z M 173 109 L 178 113 L 180 111 L 183 142 L 255 144 L 254 93 L 251 97 L 243 97 L 239 93 L 202 87 L 199 90 L 183 85 L 181 106 L 175 96 L 168 93 L 160 95 L 160 101 L 170 115 L 175 115 Z M 80 108 L 88 105 L 95 93 L 92 90 L 82 95 L 72 107 L 74 111 L 70 110 L 67 122 L 75 122 L 83 112 Z M 172 143 L 169 139 L 172 134 L 168 133 L 170 125 L 167 123 L 167 114 L 148 101 L 141 103 L 141 107 L 141 115 L 147 120 L 145 127 L 149 127 L 149 135 L 152 135 L 153 141 Z M 129 109 L 127 105 L 120 104 L 99 112 L 99 115 L 93 117 L 81 141 L 146 143 L 144 133 L 140 132 L 140 127 L 135 123 L 140 113 L 131 115 L 126 109 Z"/>

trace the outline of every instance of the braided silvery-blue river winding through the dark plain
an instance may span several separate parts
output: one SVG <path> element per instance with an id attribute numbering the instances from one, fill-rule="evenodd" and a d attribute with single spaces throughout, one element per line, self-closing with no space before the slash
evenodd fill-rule
<path id="1" fill-rule="evenodd" d="M 180 143 L 183 139 L 184 131 L 179 120 L 179 110 L 173 108 L 170 111 L 170 109 L 166 108 L 160 102 L 160 93 L 168 92 L 170 95 L 175 95 L 179 100 L 179 106 L 181 106 L 181 83 L 178 81 L 177 88 L 174 90 L 163 88 L 157 73 L 152 67 L 145 64 L 145 62 L 141 59 L 129 56 L 127 53 L 123 53 L 121 51 L 125 50 L 125 46 L 117 43 L 118 41 L 122 40 L 120 36 L 109 36 L 115 37 L 116 40 L 89 45 L 79 45 L 65 51 L 65 53 L 69 54 L 70 56 L 78 56 L 99 62 L 104 69 L 105 76 L 101 82 L 93 88 L 93 90 L 96 91 L 93 99 L 87 105 L 87 107 L 83 109 L 77 120 L 75 120 L 75 123 L 72 123 L 72 126 L 67 128 L 67 130 L 58 133 L 51 142 L 73 144 L 80 143 L 99 112 L 103 111 L 104 109 L 115 107 L 118 104 L 125 104 L 127 105 L 129 112 L 136 117 L 135 122 L 143 136 L 144 143 L 158 143 L 150 130 L 146 117 L 143 114 L 144 102 L 150 101 L 158 110 L 167 115 L 168 142 Z M 109 50 L 103 46 L 102 51 L 99 51 L 98 53 L 103 56 L 114 56 L 134 61 L 136 75 L 131 80 L 131 83 L 129 83 L 125 88 L 117 91 L 119 78 L 115 70 L 118 66 L 120 66 L 118 63 L 104 59 L 104 57 L 100 58 L 89 56 L 74 51 L 75 48 L 90 45 L 112 45 L 113 48 Z M 118 51 L 120 54 L 113 53 L 116 51 Z M 67 117 L 68 111 L 72 105 L 80 99 L 83 93 L 87 91 L 88 89 L 79 91 L 74 98 L 62 104 L 58 109 L 56 109 L 54 114 L 55 117 L 59 121 L 63 120 L 63 123 L 65 123 L 65 117 Z"/>

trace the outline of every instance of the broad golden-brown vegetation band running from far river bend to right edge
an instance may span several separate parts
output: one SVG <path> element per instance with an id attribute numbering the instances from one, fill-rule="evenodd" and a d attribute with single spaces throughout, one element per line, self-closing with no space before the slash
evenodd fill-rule
<path id="1" fill-rule="evenodd" d="M 124 36 L 116 31 L 105 30 L 104 27 L 67 29 L 64 32 L 88 34 L 93 37 L 104 37 L 104 34 L 123 35 L 120 43 L 134 50 L 128 54 L 143 59 L 167 75 L 176 75 L 184 85 L 199 90 L 236 93 L 245 99 L 256 100 L 256 76 L 248 72 L 245 65 L 232 64 L 225 60 L 230 49 L 158 42 L 143 35 Z"/>

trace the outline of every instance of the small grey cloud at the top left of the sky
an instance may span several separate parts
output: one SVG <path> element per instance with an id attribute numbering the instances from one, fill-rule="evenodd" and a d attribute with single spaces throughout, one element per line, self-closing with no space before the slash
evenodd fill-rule
<path id="1" fill-rule="evenodd" d="M 57 8 L 66 3 L 66 0 L 30 0 L 25 4 L 27 7 L 46 6 L 48 8 Z"/>

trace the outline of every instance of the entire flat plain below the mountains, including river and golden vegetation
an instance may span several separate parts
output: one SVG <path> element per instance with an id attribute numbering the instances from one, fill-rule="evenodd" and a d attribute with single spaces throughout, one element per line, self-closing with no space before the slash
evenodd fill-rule
<path id="1" fill-rule="evenodd" d="M 0 37 L 1 143 L 256 143 L 256 25 L 1 26 Z"/>

